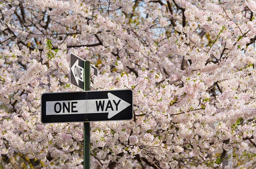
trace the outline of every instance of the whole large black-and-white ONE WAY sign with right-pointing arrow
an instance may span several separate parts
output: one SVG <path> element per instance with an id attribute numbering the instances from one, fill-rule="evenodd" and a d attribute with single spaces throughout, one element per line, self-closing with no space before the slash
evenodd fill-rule
<path id="1" fill-rule="evenodd" d="M 42 123 L 120 121 L 133 118 L 132 90 L 43 93 Z"/>

